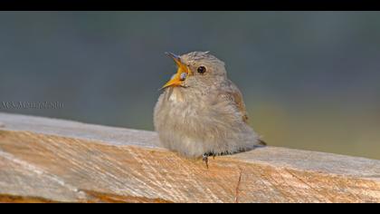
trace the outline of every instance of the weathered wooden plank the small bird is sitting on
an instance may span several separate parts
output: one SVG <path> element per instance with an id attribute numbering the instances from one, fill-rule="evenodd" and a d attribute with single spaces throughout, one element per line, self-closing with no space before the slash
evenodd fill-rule
<path id="1" fill-rule="evenodd" d="M 266 147 L 187 160 L 153 131 L 0 113 L 0 201 L 380 202 L 380 160 Z"/>

